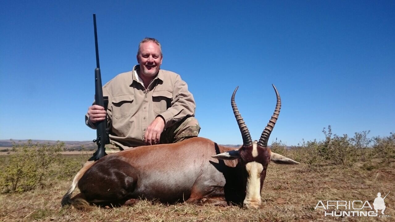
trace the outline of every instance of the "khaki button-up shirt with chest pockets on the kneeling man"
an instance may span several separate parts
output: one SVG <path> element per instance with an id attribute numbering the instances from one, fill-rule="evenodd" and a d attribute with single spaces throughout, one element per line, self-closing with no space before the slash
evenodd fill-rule
<path id="1" fill-rule="evenodd" d="M 149 124 L 158 116 L 165 120 L 165 129 L 187 116 L 195 115 L 195 100 L 188 85 L 177 73 L 159 70 L 146 89 L 133 71 L 120 73 L 103 86 L 108 96 L 107 121 L 110 141 L 128 149 L 145 145 L 143 135 Z M 88 114 L 85 123 L 92 129 Z"/>

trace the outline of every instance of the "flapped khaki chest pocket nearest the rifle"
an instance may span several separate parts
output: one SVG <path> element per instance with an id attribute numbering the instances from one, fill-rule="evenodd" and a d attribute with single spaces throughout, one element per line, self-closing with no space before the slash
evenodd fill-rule
<path id="1" fill-rule="evenodd" d="M 134 95 L 114 96 L 112 99 L 113 117 L 119 119 L 132 115 L 134 108 Z"/>

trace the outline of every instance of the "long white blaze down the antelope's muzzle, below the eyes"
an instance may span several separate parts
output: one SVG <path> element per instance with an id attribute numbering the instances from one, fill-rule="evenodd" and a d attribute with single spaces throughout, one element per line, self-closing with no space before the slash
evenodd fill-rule
<path id="1" fill-rule="evenodd" d="M 258 209 L 261 206 L 261 172 L 263 170 L 262 164 L 258 162 L 249 162 L 246 164 L 248 173 L 246 197 L 243 201 L 247 208 L 254 207 Z"/>

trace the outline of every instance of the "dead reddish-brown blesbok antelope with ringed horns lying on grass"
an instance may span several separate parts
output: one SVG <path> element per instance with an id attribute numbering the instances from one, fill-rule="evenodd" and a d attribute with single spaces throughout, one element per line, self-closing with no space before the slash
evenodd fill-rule
<path id="1" fill-rule="evenodd" d="M 186 200 L 186 203 L 199 205 L 235 203 L 259 208 L 269 162 L 299 163 L 267 147 L 281 107 L 276 87 L 273 85 L 277 96 L 274 114 L 259 141 L 254 142 L 235 103 L 237 88 L 231 105 L 243 138 L 239 149 L 194 137 L 179 143 L 136 147 L 110 154 L 86 164 L 75 175 L 71 188 L 62 198 L 62 206 L 133 205 L 144 198 L 164 203 Z M 76 186 L 81 193 L 70 198 Z"/>

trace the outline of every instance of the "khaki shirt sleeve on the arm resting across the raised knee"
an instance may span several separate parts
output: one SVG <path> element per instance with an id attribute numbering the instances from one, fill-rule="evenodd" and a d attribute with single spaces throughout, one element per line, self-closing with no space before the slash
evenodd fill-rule
<path id="1" fill-rule="evenodd" d="M 165 128 L 174 125 L 177 121 L 184 119 L 184 117 L 194 117 L 195 109 L 196 103 L 192 93 L 188 91 L 188 85 L 177 75 L 171 107 L 160 114 L 165 120 Z"/>

